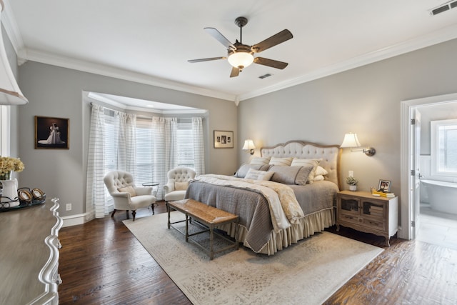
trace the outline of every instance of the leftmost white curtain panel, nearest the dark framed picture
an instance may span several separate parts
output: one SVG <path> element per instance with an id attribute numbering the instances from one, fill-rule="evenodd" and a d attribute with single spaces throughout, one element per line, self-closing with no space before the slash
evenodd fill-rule
<path id="1" fill-rule="evenodd" d="M 104 107 L 92 105 L 89 154 L 87 157 L 86 221 L 104 217 L 108 213 L 105 205 L 104 185 Z"/>

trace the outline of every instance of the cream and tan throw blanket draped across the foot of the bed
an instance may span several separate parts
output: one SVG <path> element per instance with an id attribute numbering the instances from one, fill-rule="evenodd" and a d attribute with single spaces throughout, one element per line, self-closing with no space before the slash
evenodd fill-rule
<path id="1" fill-rule="evenodd" d="M 281 229 L 287 229 L 291 224 L 298 223 L 298 219 L 304 217 L 303 210 L 298 204 L 293 190 L 285 184 L 213 174 L 201 175 L 194 180 L 260 192 L 268 201 L 273 229 L 276 232 Z"/>

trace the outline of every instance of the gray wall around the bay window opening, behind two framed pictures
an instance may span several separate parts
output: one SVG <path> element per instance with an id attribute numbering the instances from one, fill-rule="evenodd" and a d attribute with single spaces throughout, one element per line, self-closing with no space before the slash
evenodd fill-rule
<path id="1" fill-rule="evenodd" d="M 136 99 L 180 104 L 207 109 L 209 139 L 206 148 L 206 172 L 233 174 L 238 150 L 214 149 L 214 129 L 234 131 L 237 136 L 237 112 L 233 101 L 188 94 L 131 81 L 123 81 L 48 64 L 28 61 L 19 68 L 19 86 L 29 104 L 19 107 L 19 152 L 26 169 L 20 174 L 19 186 L 39 187 L 49 198 L 59 197 L 61 216 L 85 212 L 86 151 L 89 140 L 89 107 L 83 104 L 83 91 L 129 96 Z M 34 116 L 70 119 L 70 149 L 34 149 Z M 235 142 L 236 143 L 236 142 Z M 65 204 L 72 211 L 64 211 Z"/>

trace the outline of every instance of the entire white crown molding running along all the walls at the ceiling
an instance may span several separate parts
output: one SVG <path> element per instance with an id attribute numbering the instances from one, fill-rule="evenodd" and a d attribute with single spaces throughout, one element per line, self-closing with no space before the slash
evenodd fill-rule
<path id="1" fill-rule="evenodd" d="M 38 61 L 44 64 L 51 64 L 54 66 L 61 66 L 68 69 L 75 69 L 79 71 L 85 71 L 93 74 L 99 74 L 103 76 L 114 77 L 116 79 L 124 79 L 126 81 L 134 81 L 141 84 L 149 84 L 152 86 L 159 86 L 166 89 L 172 89 L 176 91 L 184 91 L 191 94 L 199 94 L 201 96 L 209 96 L 216 99 L 224 99 L 227 101 L 234 101 L 236 106 L 241 101 L 251 99 L 256 96 L 261 96 L 274 91 L 286 89 L 291 86 L 303 84 L 308 81 L 321 79 L 332 74 L 337 74 L 350 69 L 365 66 L 366 64 L 372 64 L 376 61 L 388 59 L 393 56 L 406 54 L 411 51 L 426 48 L 427 46 L 433 46 L 434 44 L 440 44 L 444 41 L 457 38 L 457 25 L 448 26 L 438 31 L 433 31 L 424 36 L 416 37 L 408 41 L 403 41 L 399 44 L 388 46 L 384 49 L 376 50 L 362 56 L 357 56 L 347 61 L 342 61 L 331 66 L 326 66 L 316 71 L 311 71 L 307 74 L 291 79 L 288 81 L 282 81 L 273 86 L 268 86 L 263 89 L 248 91 L 244 94 L 228 94 L 225 92 L 214 91 L 204 89 L 197 86 L 191 86 L 189 84 L 183 84 L 176 81 L 169 81 L 167 79 L 160 79 L 154 76 L 146 74 L 139 74 L 133 71 L 127 71 L 124 69 L 114 68 L 112 66 L 105 66 L 101 64 L 94 64 L 88 61 L 81 61 L 77 59 L 71 59 L 65 56 L 58 56 L 56 54 L 46 53 L 44 51 L 38 51 L 33 49 L 26 49 L 24 41 L 22 40 L 19 26 L 17 26 L 14 14 L 9 6 L 9 0 L 4 0 L 5 8 L 2 13 L 1 23 L 4 25 L 6 34 L 9 36 L 11 44 L 16 51 L 18 64 L 24 64 L 27 60 Z"/>

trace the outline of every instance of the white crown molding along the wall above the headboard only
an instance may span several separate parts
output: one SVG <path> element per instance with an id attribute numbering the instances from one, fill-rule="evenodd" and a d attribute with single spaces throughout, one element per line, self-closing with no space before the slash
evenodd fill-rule
<path id="1" fill-rule="evenodd" d="M 316 79 L 321 79 L 325 76 L 330 76 L 332 74 L 337 74 L 343 71 L 348 71 L 350 69 L 358 68 L 360 66 L 365 66 L 367 64 L 373 64 L 376 61 L 381 61 L 383 59 L 388 59 L 394 56 L 401 54 L 406 54 L 411 51 L 416 51 L 418 49 L 426 48 L 427 46 L 433 46 L 434 44 L 440 44 L 445 41 L 449 41 L 457 38 L 457 25 L 448 26 L 439 31 L 433 31 L 427 35 L 417 37 L 416 39 L 410 39 L 408 41 L 403 41 L 400 44 L 394 44 L 388 46 L 384 49 L 376 50 L 368 54 L 363 54 L 362 56 L 354 57 L 348 61 L 342 61 L 338 64 L 331 66 L 326 66 L 322 69 L 312 71 L 311 73 L 304 74 L 296 79 L 291 79 L 289 81 L 283 81 L 281 83 L 275 84 L 273 86 L 268 86 L 263 89 L 256 91 L 246 92 L 245 94 L 239 94 L 236 96 L 235 102 L 244 101 L 246 99 L 251 99 L 256 96 L 261 96 L 263 94 L 268 94 L 274 91 L 281 89 L 286 89 L 291 86 L 296 86 L 298 84 L 303 84 L 308 81 L 313 81 Z M 238 105 L 238 104 L 237 104 Z"/>

